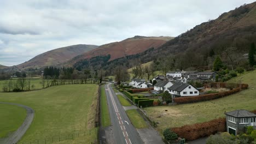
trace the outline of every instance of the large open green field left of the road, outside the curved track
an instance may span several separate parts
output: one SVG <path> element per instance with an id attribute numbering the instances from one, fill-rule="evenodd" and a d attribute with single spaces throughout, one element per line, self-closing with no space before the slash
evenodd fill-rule
<path id="1" fill-rule="evenodd" d="M 3 93 L 0 101 L 23 104 L 34 109 L 34 120 L 21 142 L 85 130 L 88 135 L 72 143 L 79 143 L 77 141 L 80 139 L 91 143 L 96 137 L 94 133 L 89 135 L 89 130 L 96 129 L 97 88 L 97 85 L 89 84 L 54 86 L 39 91 Z"/>

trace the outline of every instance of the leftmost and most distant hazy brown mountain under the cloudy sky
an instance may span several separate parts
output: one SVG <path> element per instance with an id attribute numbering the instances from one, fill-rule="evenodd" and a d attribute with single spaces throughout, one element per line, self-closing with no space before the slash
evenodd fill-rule
<path id="1" fill-rule="evenodd" d="M 61 47 L 59 49 L 44 52 L 25 63 L 17 65 L 20 69 L 27 68 L 39 68 L 50 65 L 59 65 L 67 62 L 75 56 L 80 55 L 86 51 L 95 49 L 96 45 L 71 45 L 67 47 Z"/>

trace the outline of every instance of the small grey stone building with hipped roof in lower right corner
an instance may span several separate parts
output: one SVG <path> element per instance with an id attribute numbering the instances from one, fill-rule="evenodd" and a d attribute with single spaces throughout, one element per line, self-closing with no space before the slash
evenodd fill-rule
<path id="1" fill-rule="evenodd" d="M 226 131 L 228 133 L 237 135 L 245 132 L 245 127 L 253 126 L 256 129 L 255 118 L 256 115 L 247 110 L 236 110 L 226 112 Z"/>

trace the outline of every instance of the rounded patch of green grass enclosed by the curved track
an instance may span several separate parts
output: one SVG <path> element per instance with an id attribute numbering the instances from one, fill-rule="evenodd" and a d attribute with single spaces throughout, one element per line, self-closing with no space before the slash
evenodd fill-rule
<path id="1" fill-rule="evenodd" d="M 0 138 L 17 130 L 26 118 L 26 110 L 16 105 L 0 104 Z"/>

